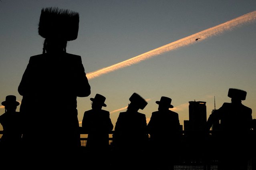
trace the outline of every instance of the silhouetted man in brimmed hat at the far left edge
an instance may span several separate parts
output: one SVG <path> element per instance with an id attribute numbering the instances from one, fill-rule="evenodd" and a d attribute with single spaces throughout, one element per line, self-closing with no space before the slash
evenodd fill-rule
<path id="1" fill-rule="evenodd" d="M 21 163 L 22 114 L 16 111 L 20 103 L 16 101 L 16 96 L 8 95 L 2 105 L 5 113 L 0 115 L 0 124 L 3 127 L 0 139 L 0 162 L 6 169 L 15 169 Z"/>

